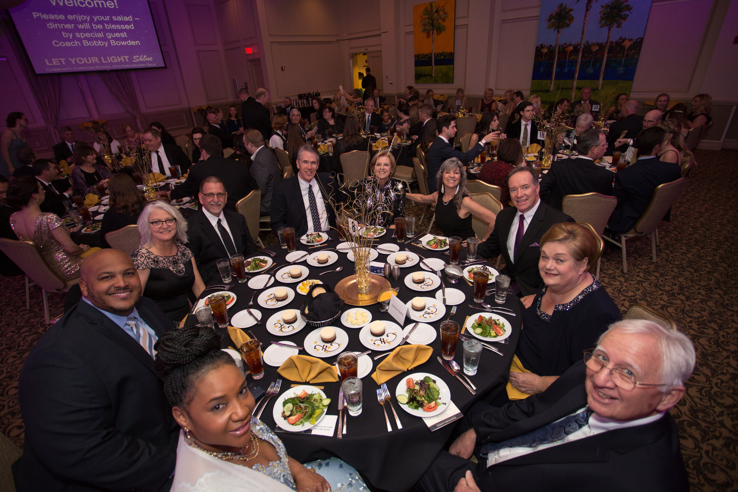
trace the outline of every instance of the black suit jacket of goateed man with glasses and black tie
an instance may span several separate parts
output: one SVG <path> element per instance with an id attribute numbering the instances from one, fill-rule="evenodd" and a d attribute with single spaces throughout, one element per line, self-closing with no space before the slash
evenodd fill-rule
<path id="1" fill-rule="evenodd" d="M 251 238 L 249 226 L 246 225 L 246 218 L 238 212 L 224 210 L 228 228 L 233 237 L 233 244 L 239 254 L 249 254 L 256 251 L 256 244 Z M 210 273 L 210 278 L 218 277 L 218 267 L 215 262 L 221 258 L 229 258 L 223 241 L 218 232 L 215 231 L 213 224 L 205 216 L 205 212 L 200 209 L 197 213 L 187 219 L 187 248 L 190 249 L 195 257 L 195 263 L 200 271 L 200 275 L 204 272 Z M 257 232 L 258 233 L 258 232 Z"/>

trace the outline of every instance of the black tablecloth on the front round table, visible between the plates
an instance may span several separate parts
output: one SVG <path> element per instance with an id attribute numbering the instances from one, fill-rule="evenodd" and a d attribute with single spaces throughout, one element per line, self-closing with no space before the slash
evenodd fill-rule
<path id="1" fill-rule="evenodd" d="M 387 232 L 382 237 L 376 240 L 375 245 L 384 243 L 396 244 L 396 239 L 390 238 L 391 232 L 392 229 L 387 229 Z M 337 232 L 331 229 L 331 232 L 329 232 L 329 236 L 333 240 L 328 241 L 327 245 L 320 246 L 315 249 L 308 248 L 306 245 L 300 243 L 300 241 L 297 240 L 297 249 L 309 251 L 310 254 L 314 254 L 314 252 L 323 250 L 326 247 L 335 248 L 339 243 L 339 241 L 337 240 Z M 418 241 L 416 240 L 415 243 L 417 242 Z M 404 246 L 408 246 L 411 251 L 422 254 L 424 257 L 438 257 L 441 258 L 441 260 L 446 261 L 446 263 L 448 262 L 448 257 L 444 256 L 442 252 L 427 250 L 410 243 L 408 243 L 407 245 L 401 245 L 401 249 L 404 249 Z M 269 272 L 276 271 L 288 263 L 285 260 L 287 250 L 281 249 L 278 243 L 274 246 L 270 246 L 268 249 L 272 252 L 278 253 L 277 256 L 273 258 L 278 266 L 273 268 L 272 270 L 269 270 Z M 461 256 L 461 260 L 463 260 L 463 252 Z M 387 254 L 379 254 L 379 257 L 377 257 L 374 261 L 384 263 L 386 259 Z M 339 280 L 342 280 L 343 278 L 354 274 L 354 263 L 348 260 L 346 253 L 342 252 L 339 252 L 339 259 L 335 263 L 332 263 L 328 266 L 311 266 L 306 263 L 306 260 L 294 263 L 294 265 L 300 265 L 309 269 L 309 274 L 305 280 L 320 279 L 321 281 L 323 281 L 323 283 L 331 285 L 331 287 L 335 287 Z M 334 270 L 339 266 L 343 266 L 342 271 L 331 272 L 320 276 L 318 275 L 321 271 Z M 413 271 L 421 271 L 421 267 L 418 265 L 414 267 L 411 266 L 407 268 L 400 268 L 400 270 L 400 279 L 390 279 L 390 284 L 394 288 L 398 289 L 398 297 L 403 302 L 409 301 L 416 295 L 435 297 L 436 291 L 440 289 L 440 287 L 438 287 L 433 291 L 424 293 L 411 290 L 404 284 L 404 277 Z M 233 277 L 233 281 L 235 281 L 235 277 Z M 452 317 L 452 320 L 458 322 L 463 329 L 463 323 L 466 319 L 466 316 L 480 312 L 480 310 L 478 309 L 469 307 L 469 304 L 475 304 L 475 302 L 473 301 L 472 287 L 464 282 L 464 280 L 462 279 L 460 279 L 456 284 L 449 283 L 446 278 L 444 278 L 444 282 L 446 283 L 446 288 L 457 288 L 466 296 L 466 299 L 464 299 L 464 301 L 457 306 L 458 311 Z M 221 283 L 219 279 L 218 283 Z M 298 346 L 303 346 L 303 342 L 305 341 L 306 336 L 314 329 L 309 326 L 305 326 L 298 333 L 294 333 L 289 336 L 277 337 L 269 333 L 265 328 L 266 321 L 267 319 L 269 319 L 269 316 L 272 316 L 272 314 L 275 314 L 283 309 L 294 309 L 299 311 L 305 297 L 303 294 L 300 294 L 300 292 L 297 291 L 297 285 L 300 285 L 300 283 L 280 283 L 275 279 L 275 282 L 269 286 L 284 286 L 292 288 L 295 291 L 295 296 L 292 302 L 289 303 L 289 305 L 283 305 L 275 309 L 263 308 L 261 305 L 258 305 L 258 303 L 256 302 L 256 298 L 254 299 L 254 305 L 252 306 L 252 309 L 256 308 L 261 311 L 262 324 L 253 325 L 249 328 L 245 328 L 244 332 L 247 332 L 247 330 L 251 330 L 259 339 L 259 341 L 263 344 L 263 350 L 266 350 L 266 348 L 269 347 L 269 345 L 271 344 L 270 342 L 272 341 L 294 342 L 294 344 L 297 344 Z M 263 289 L 258 289 L 257 292 L 260 293 L 262 290 Z M 236 294 L 237 299 L 235 301 L 235 305 L 228 310 L 229 316 L 233 316 L 235 315 L 235 313 L 244 310 L 249 303 L 249 299 L 251 299 L 252 294 L 254 293 L 254 290 L 249 288 L 246 283 L 238 282 L 236 282 L 235 285 L 231 288 L 231 291 Z M 213 294 L 213 292 L 215 291 L 205 291 L 204 295 L 201 297 L 205 297 L 208 294 Z M 258 297 L 258 293 L 256 294 L 256 297 Z M 492 299 L 492 296 L 488 296 L 486 298 L 486 301 L 494 303 L 494 299 Z M 438 333 L 438 327 L 441 325 L 441 320 L 439 319 L 436 322 L 430 323 L 430 325 L 432 325 L 432 327 L 437 330 L 437 336 L 435 340 L 430 343 L 430 347 L 432 347 L 433 349 L 433 355 L 431 356 L 431 358 L 429 358 L 428 361 L 426 361 L 424 364 L 421 364 L 420 366 L 415 367 L 414 369 L 406 373 L 401 373 L 400 375 L 397 375 L 387 381 L 387 388 L 393 395 L 392 403 L 402 423 L 402 429 L 397 429 L 392 411 L 390 408 L 387 408 L 388 405 L 385 405 L 385 408 L 387 408 L 387 415 L 390 418 L 390 423 L 393 428 L 392 432 L 387 432 L 387 424 L 384 421 L 382 406 L 379 405 L 376 400 L 376 389 L 378 389 L 379 386 L 371 378 L 371 374 L 374 373 L 377 364 L 382 362 L 384 358 L 380 358 L 376 361 L 372 358 L 372 370 L 369 375 L 365 376 L 365 378 L 362 378 L 362 383 L 364 385 L 362 390 L 362 413 L 361 415 L 358 415 L 356 417 L 348 417 L 347 432 L 343 435 L 342 439 L 338 439 L 336 437 L 337 427 L 334 428 L 334 434 L 331 437 L 312 434 L 299 434 L 286 431 L 282 432 L 282 429 L 278 428 L 275 425 L 275 420 L 272 417 L 272 410 L 275 406 L 275 401 L 277 400 L 276 397 L 272 398 L 268 403 L 266 403 L 266 409 L 261 415 L 261 420 L 266 423 L 266 425 L 269 426 L 270 429 L 274 429 L 277 431 L 277 435 L 283 441 L 289 455 L 300 462 L 307 462 L 309 460 L 337 456 L 359 470 L 365 477 L 370 480 L 370 482 L 375 487 L 392 492 L 407 491 L 415 484 L 415 482 L 418 481 L 418 479 L 425 471 L 427 465 L 430 465 L 430 462 L 432 462 L 435 456 L 441 451 L 444 443 L 446 443 L 446 440 L 448 440 L 449 435 L 451 434 L 452 429 L 455 426 L 455 423 L 451 423 L 449 425 L 441 427 L 441 429 L 438 429 L 435 432 L 431 432 L 426 423 L 424 423 L 421 418 L 414 417 L 413 415 L 405 412 L 404 409 L 400 408 L 399 403 L 397 403 L 396 398 L 394 398 L 394 392 L 397 384 L 399 384 L 399 381 L 404 381 L 404 379 L 410 373 L 431 373 L 446 382 L 451 391 L 452 401 L 456 404 L 456 406 L 458 406 L 458 409 L 460 409 L 461 412 L 466 412 L 469 407 L 471 407 L 480 398 L 483 398 L 486 393 L 488 393 L 490 390 L 494 389 L 498 385 L 502 384 L 503 382 L 507 381 L 507 374 L 512 361 L 512 356 L 514 354 L 515 347 L 517 346 L 517 340 L 520 336 L 520 319 L 522 318 L 523 305 L 520 300 L 517 299 L 517 297 L 509 294 L 504 307 L 513 310 L 517 314 L 517 316 L 500 315 L 508 319 L 511 325 L 512 332 L 511 335 L 508 337 L 508 344 L 492 344 L 494 347 L 497 348 L 497 350 L 500 350 L 500 352 L 504 354 L 503 356 L 500 356 L 497 353 L 492 352 L 491 350 L 482 351 L 482 357 L 477 374 L 474 376 L 469 376 L 469 378 L 477 387 L 476 395 L 472 395 L 472 393 L 469 392 L 468 389 L 463 387 L 461 382 L 459 382 L 458 379 L 455 378 L 455 376 L 449 374 L 444 369 L 444 367 L 441 367 L 441 364 L 439 364 L 438 360 L 436 359 L 436 356 L 441 355 L 441 336 L 440 333 Z M 344 305 L 342 312 L 348 311 L 353 308 L 356 308 L 356 306 L 348 304 Z M 393 317 L 390 316 L 389 313 L 382 313 L 379 311 L 378 303 L 368 306 L 362 306 L 362 308 L 367 309 L 371 313 L 373 321 L 395 321 L 395 319 L 393 319 Z M 442 317 L 442 319 L 447 319 L 449 317 L 449 312 L 451 308 L 452 306 L 450 305 L 446 306 L 446 314 Z M 196 324 L 196 317 L 190 315 L 187 319 L 187 323 Z M 406 318 L 402 323 L 402 328 L 411 324 L 413 324 L 413 322 L 410 321 L 409 318 Z M 345 350 L 351 350 L 355 352 L 363 352 L 367 350 L 367 347 L 359 342 L 359 329 L 347 328 L 345 327 L 345 325 L 342 324 L 342 322 L 340 322 L 339 319 L 337 319 L 333 325 L 342 328 L 343 330 L 345 330 L 346 333 L 348 333 L 349 342 L 348 347 L 346 347 Z M 235 347 L 236 344 L 232 342 L 230 336 L 228 336 L 227 334 L 226 329 L 216 328 L 216 330 L 221 335 L 224 335 L 224 338 L 221 342 L 221 346 L 223 348 Z M 468 334 L 468 331 L 465 333 Z M 373 350 L 370 353 L 370 356 L 377 356 L 381 353 L 383 352 Z M 300 350 L 300 354 L 305 355 L 305 350 Z M 336 356 L 323 358 L 322 360 L 328 364 L 334 364 L 334 362 L 336 361 Z M 463 349 L 461 347 L 461 341 L 457 345 L 455 361 L 459 364 L 459 366 L 463 367 Z M 283 382 L 280 389 L 280 395 L 284 392 L 289 392 L 291 390 L 292 384 L 295 384 L 296 386 L 298 384 L 307 384 L 298 383 L 297 381 L 289 381 L 277 373 L 277 367 L 272 367 L 267 364 L 264 364 L 264 372 L 265 374 L 263 378 L 254 381 L 254 383 L 258 386 L 261 386 L 263 389 L 266 389 L 267 387 L 269 387 L 269 384 L 271 384 L 272 381 L 275 381 L 277 378 L 281 378 L 283 379 Z M 252 381 L 250 375 L 247 375 L 246 378 L 249 379 L 249 383 Z M 339 383 L 318 383 L 316 384 L 316 386 L 324 387 L 323 391 L 326 395 L 328 395 L 328 398 L 331 398 L 331 403 L 328 406 L 326 413 L 328 415 L 338 415 L 337 402 Z M 261 409 L 262 406 L 263 404 L 258 405 L 258 409 Z"/>

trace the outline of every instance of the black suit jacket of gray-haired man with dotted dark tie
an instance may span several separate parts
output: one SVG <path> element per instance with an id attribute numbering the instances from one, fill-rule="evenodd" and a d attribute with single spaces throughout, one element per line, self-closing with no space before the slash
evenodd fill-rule
<path id="1" fill-rule="evenodd" d="M 303 202 L 303 192 L 300 190 L 299 176 L 277 181 L 272 194 L 272 230 L 276 233 L 280 227 L 294 227 L 297 238 L 308 232 L 308 212 Z M 320 186 L 320 193 L 325 193 L 334 201 L 345 201 L 345 193 L 339 189 L 339 184 L 328 173 L 317 173 L 315 179 Z M 328 212 L 328 224 L 336 226 L 336 212 L 333 207 L 325 203 L 325 212 Z"/>

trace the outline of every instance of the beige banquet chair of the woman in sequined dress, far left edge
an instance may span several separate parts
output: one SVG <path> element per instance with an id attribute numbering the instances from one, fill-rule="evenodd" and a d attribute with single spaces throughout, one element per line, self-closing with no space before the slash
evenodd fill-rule
<path id="1" fill-rule="evenodd" d="M 0 238 L 0 251 L 7 254 L 7 257 L 21 267 L 21 270 L 26 274 L 26 311 L 31 308 L 31 285 L 41 287 L 41 293 L 44 296 L 44 319 L 46 319 L 46 325 L 50 325 L 49 298 L 46 297 L 46 293 L 63 293 L 69 291 L 72 285 L 80 283 L 80 277 L 72 280 L 63 280 L 49 263 L 46 263 L 41 250 L 32 241 L 16 241 Z"/>

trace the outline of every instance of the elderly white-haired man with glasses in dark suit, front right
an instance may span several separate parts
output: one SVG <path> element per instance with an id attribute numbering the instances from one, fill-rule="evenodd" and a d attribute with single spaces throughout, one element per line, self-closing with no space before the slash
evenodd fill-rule
<path id="1" fill-rule="evenodd" d="M 476 403 L 461 434 L 416 485 L 422 491 L 689 491 L 669 415 L 694 370 L 677 330 L 610 325 L 545 392 L 494 408 Z M 472 454 L 478 463 L 469 461 Z"/>

